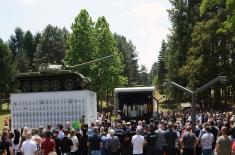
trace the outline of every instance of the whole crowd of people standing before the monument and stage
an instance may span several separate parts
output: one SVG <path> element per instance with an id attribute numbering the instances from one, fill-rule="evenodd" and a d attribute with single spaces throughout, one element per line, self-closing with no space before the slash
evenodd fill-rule
<path id="1" fill-rule="evenodd" d="M 4 127 L 0 154 L 6 155 L 235 155 L 235 114 L 190 110 L 155 113 L 148 120 L 125 121 L 99 113 L 79 129 L 67 122 L 29 130 Z"/>

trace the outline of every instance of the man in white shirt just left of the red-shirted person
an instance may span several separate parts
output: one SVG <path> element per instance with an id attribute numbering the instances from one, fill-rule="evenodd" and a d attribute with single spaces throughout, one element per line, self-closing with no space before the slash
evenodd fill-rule
<path id="1" fill-rule="evenodd" d="M 32 134 L 27 132 L 26 141 L 23 142 L 21 151 L 24 155 L 36 155 L 37 153 L 37 144 L 32 140 Z"/>

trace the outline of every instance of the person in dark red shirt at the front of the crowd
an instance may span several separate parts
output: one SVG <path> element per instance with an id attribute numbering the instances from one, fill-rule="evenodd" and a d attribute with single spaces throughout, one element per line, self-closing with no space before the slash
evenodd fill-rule
<path id="1" fill-rule="evenodd" d="M 48 130 L 45 132 L 45 139 L 41 144 L 41 150 L 44 155 L 48 155 L 50 152 L 55 151 L 55 141 L 51 138 L 51 132 Z"/>

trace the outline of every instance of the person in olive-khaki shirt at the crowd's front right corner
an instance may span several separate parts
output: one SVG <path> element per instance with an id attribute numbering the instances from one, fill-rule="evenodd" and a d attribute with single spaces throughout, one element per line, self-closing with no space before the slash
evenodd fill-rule
<path id="1" fill-rule="evenodd" d="M 230 155 L 231 153 L 231 140 L 228 137 L 228 128 L 221 128 L 221 136 L 216 141 L 216 152 L 217 155 Z"/>

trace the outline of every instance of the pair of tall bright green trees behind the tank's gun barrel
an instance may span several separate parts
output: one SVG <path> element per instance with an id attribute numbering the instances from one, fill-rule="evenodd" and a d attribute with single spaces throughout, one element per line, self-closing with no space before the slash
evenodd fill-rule
<path id="1" fill-rule="evenodd" d="M 98 98 L 110 94 L 117 86 L 123 86 L 127 79 L 123 76 L 123 57 L 118 53 L 115 39 L 105 17 L 94 23 L 86 10 L 81 10 L 71 26 L 67 43 L 66 61 L 75 65 L 92 59 L 113 55 L 111 60 L 81 67 L 79 72 L 92 80 L 91 89 Z"/>

